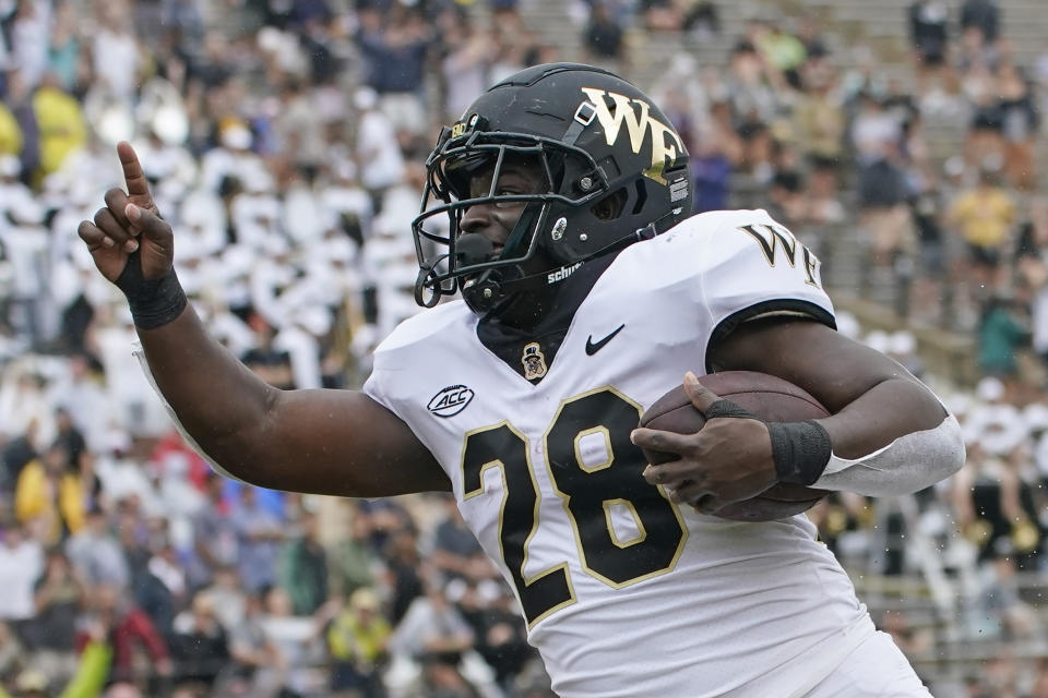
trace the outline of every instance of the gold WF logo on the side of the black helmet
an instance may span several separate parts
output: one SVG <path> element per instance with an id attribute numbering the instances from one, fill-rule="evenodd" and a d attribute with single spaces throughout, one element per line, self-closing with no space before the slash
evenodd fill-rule
<path id="1" fill-rule="evenodd" d="M 672 127 L 652 118 L 652 106 L 643 99 L 631 99 L 626 95 L 619 95 L 614 92 L 606 92 L 595 87 L 583 87 L 582 92 L 590 97 L 597 120 L 604 128 L 605 139 L 608 145 L 615 145 L 619 140 L 622 124 L 626 123 L 626 132 L 630 136 L 630 147 L 634 154 L 641 152 L 644 145 L 644 135 L 652 133 L 652 166 L 644 170 L 644 176 L 665 184 L 663 170 L 672 166 L 677 161 L 677 156 L 683 153 L 684 144 L 677 135 Z M 608 107 L 608 99 L 615 105 L 615 113 L 611 113 Z M 640 112 L 634 108 L 636 105 Z M 668 136 L 668 137 L 667 137 Z"/>

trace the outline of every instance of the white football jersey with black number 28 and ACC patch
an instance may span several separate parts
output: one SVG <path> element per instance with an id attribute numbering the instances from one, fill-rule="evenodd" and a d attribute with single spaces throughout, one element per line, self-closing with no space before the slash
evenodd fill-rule
<path id="1" fill-rule="evenodd" d="M 763 210 L 714 212 L 623 250 L 556 358 L 525 349 L 537 384 L 462 301 L 377 350 L 365 390 L 446 471 L 559 696 L 800 696 L 873 631 L 805 516 L 703 516 L 641 476 L 639 417 L 707 372 L 712 338 L 769 313 L 833 323 L 818 260 Z"/>

